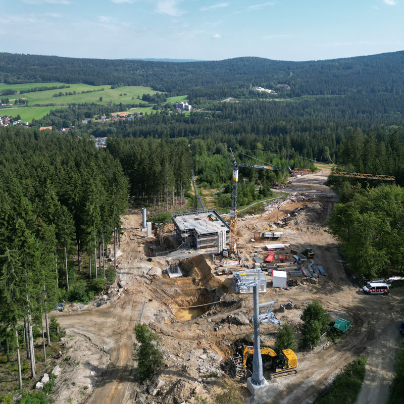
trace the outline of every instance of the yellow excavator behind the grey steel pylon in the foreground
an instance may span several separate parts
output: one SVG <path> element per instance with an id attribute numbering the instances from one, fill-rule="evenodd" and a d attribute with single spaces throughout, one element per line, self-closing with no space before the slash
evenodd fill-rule
<path id="1" fill-rule="evenodd" d="M 234 378 L 246 375 L 246 364 L 249 356 L 254 355 L 254 346 L 245 346 L 242 356 L 231 359 L 231 372 Z M 271 357 L 273 373 L 271 379 L 275 377 L 288 376 L 297 373 L 297 356 L 291 349 L 283 349 L 279 355 L 268 347 L 261 348 L 261 355 Z"/>

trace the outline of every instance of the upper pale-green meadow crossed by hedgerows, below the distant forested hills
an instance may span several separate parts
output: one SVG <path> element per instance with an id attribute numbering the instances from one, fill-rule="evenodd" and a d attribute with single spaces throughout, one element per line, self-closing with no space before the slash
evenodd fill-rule
<path id="1" fill-rule="evenodd" d="M 19 91 L 25 88 L 32 88 L 40 85 L 44 86 L 51 86 L 51 85 L 62 85 L 64 83 L 28 83 L 28 84 L 0 84 L 0 91 L 6 88 L 11 88 L 13 90 Z M 110 100 L 112 100 L 115 104 L 145 104 L 141 99 L 137 99 L 137 96 L 141 98 L 143 94 L 155 94 L 158 91 L 155 91 L 151 87 L 140 87 L 140 86 L 127 86 L 127 87 L 118 87 L 111 89 L 110 85 L 98 85 L 92 86 L 88 84 L 69 84 L 70 88 L 62 88 L 56 90 L 46 90 L 46 91 L 36 91 L 36 92 L 27 92 L 23 94 L 16 94 L 16 95 L 5 95 L 5 97 L 12 100 L 15 98 L 25 98 L 28 100 L 29 105 L 41 104 L 83 104 L 83 103 L 97 103 L 97 104 L 108 104 Z M 99 90 L 104 88 L 104 91 L 94 91 L 94 92 L 87 92 L 82 94 L 81 91 L 89 91 L 89 90 Z M 73 95 L 63 95 L 61 97 L 54 97 L 54 94 L 58 94 L 62 92 L 73 92 L 76 91 L 76 94 Z M 120 95 L 120 94 L 127 94 L 127 95 Z M 99 97 L 103 97 L 103 100 L 100 102 Z M 132 99 L 134 97 L 134 99 Z"/>

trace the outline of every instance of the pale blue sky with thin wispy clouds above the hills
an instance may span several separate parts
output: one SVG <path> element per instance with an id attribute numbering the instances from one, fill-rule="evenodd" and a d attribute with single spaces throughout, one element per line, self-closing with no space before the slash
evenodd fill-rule
<path id="1" fill-rule="evenodd" d="M 404 49 L 404 0 L 0 0 L 0 52 L 319 60 Z"/>

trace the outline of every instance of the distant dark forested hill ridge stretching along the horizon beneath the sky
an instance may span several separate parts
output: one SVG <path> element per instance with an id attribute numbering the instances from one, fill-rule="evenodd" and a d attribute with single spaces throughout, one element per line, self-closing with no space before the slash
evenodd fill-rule
<path id="1" fill-rule="evenodd" d="M 145 85 L 191 97 L 287 84 L 290 96 L 404 92 L 404 52 L 309 62 L 246 57 L 209 62 L 75 59 L 0 53 L 0 82 Z"/>

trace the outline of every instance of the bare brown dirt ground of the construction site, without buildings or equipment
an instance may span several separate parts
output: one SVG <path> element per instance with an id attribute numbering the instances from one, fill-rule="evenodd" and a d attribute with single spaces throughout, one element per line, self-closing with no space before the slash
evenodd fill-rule
<path id="1" fill-rule="evenodd" d="M 313 177 L 313 178 L 311 178 Z M 325 230 L 325 220 L 332 211 L 335 195 L 323 188 L 325 177 L 308 175 L 294 179 L 285 190 L 305 192 L 316 199 L 299 200 L 298 195 L 283 201 L 279 218 L 291 217 L 282 227 L 282 242 L 311 246 L 315 262 L 327 275 L 319 284 L 300 284 L 287 290 L 268 288 L 261 301 L 276 300 L 285 304 L 292 300 L 297 309 L 278 313 L 282 323 L 299 328 L 302 309 L 313 298 L 321 301 L 332 318 L 342 317 L 352 322 L 351 329 L 336 343 L 328 344 L 315 353 L 298 353 L 296 375 L 269 381 L 262 397 L 252 398 L 244 389 L 245 401 L 260 403 L 311 402 L 342 368 L 358 355 L 368 358 L 365 381 L 358 403 L 384 403 L 393 379 L 392 358 L 399 346 L 399 321 L 402 317 L 404 290 L 392 289 L 387 296 L 367 296 L 345 276 L 335 240 Z M 309 186 L 307 186 L 308 184 Z M 312 185 L 316 188 L 312 188 Z M 317 188 L 319 187 L 319 188 Z M 296 211 L 296 208 L 301 208 Z M 296 214 L 294 214 L 296 213 Z M 251 261 L 248 251 L 254 245 L 251 236 L 262 233 L 276 221 L 276 209 L 266 216 L 258 215 L 239 222 L 240 243 L 246 245 L 243 255 Z M 214 263 L 209 255 L 188 256 L 181 262 L 184 277 L 169 279 L 167 275 L 147 275 L 152 267 L 165 269 L 164 258 L 146 259 L 145 234 L 139 229 L 141 214 L 130 212 L 123 218 L 121 237 L 123 256 L 118 265 L 119 295 L 92 312 L 58 314 L 58 321 L 67 330 L 64 373 L 58 378 L 56 402 L 193 404 L 196 396 L 211 398 L 217 391 L 221 375 L 228 373 L 228 359 L 234 354 L 234 342 L 253 334 L 251 323 L 234 321 L 236 313 L 252 315 L 252 295 L 234 294 L 231 276 L 213 275 Z M 186 255 L 185 255 L 186 257 Z M 111 293 L 111 296 L 114 293 Z M 216 305 L 207 305 L 220 301 Z M 174 311 L 195 315 L 185 306 L 198 308 L 200 317 L 179 321 Z M 157 394 L 147 391 L 148 385 L 136 382 L 132 358 L 136 343 L 134 326 L 138 321 L 158 333 L 165 354 L 165 368 L 154 380 Z M 263 343 L 274 343 L 278 326 L 261 326 Z M 77 364 L 79 362 L 79 364 Z M 269 380 L 269 375 L 266 375 Z M 73 384 L 74 383 L 74 384 Z M 245 382 L 240 385 L 245 387 Z M 71 398 L 71 401 L 68 399 Z"/>

